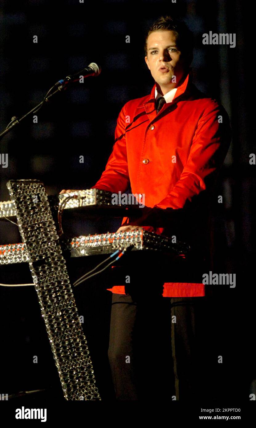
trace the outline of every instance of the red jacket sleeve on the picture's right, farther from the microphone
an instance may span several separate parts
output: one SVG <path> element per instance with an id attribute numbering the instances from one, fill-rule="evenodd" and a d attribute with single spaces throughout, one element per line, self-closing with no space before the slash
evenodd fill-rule
<path id="1" fill-rule="evenodd" d="M 222 123 L 219 117 L 222 116 Z M 192 196 L 208 188 L 223 163 L 231 141 L 231 128 L 226 110 L 217 104 L 210 104 L 199 119 L 191 144 L 188 160 L 173 190 L 155 207 L 183 208 Z M 207 185 L 206 185 L 207 184 Z"/>

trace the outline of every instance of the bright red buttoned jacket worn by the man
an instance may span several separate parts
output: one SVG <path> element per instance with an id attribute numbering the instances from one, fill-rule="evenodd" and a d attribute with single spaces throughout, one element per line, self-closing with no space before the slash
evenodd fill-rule
<path id="1" fill-rule="evenodd" d="M 208 182 L 225 159 L 231 130 L 224 108 L 202 94 L 191 80 L 189 73 L 173 101 L 164 104 L 158 114 L 155 85 L 150 95 L 122 107 L 113 151 L 93 187 L 123 193 L 131 186 L 132 193 L 145 194 L 147 207 L 163 209 L 183 208 L 193 196 L 206 187 L 208 190 Z M 127 217 L 122 220 L 124 224 L 129 224 Z M 168 236 L 163 228 L 156 232 Z M 125 294 L 123 286 L 112 291 Z M 202 283 L 164 285 L 164 297 L 204 295 Z"/>

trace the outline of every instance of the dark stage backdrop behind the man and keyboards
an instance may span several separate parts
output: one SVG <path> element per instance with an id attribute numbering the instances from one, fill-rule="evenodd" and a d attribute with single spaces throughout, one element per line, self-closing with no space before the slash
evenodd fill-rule
<path id="1" fill-rule="evenodd" d="M 9 166 L 1 168 L 0 200 L 9 200 L 6 182 L 37 178 L 48 194 L 62 189 L 86 189 L 95 184 L 114 143 L 116 119 L 130 99 L 150 92 L 154 81 L 144 60 L 144 33 L 161 15 L 186 21 L 195 35 L 193 81 L 220 100 L 229 114 L 232 144 L 213 193 L 214 272 L 235 273 L 236 288 L 213 286 L 211 312 L 203 320 L 202 343 L 209 349 L 202 370 L 208 391 L 225 400 L 247 401 L 256 378 L 253 362 L 255 318 L 255 166 L 250 54 L 252 27 L 247 2 L 113 1 L 89 4 L 79 0 L 14 1 L 0 6 L 0 129 L 12 116 L 26 113 L 42 101 L 50 87 L 66 75 L 96 62 L 99 77 L 69 87 L 47 108 L 7 134 L 0 152 Z M 236 46 L 202 45 L 202 34 L 235 33 Z M 33 36 L 38 43 L 33 43 Z M 130 36 L 130 43 L 125 37 Z M 79 163 L 79 156 L 84 163 Z M 217 196 L 223 196 L 223 204 Z M 74 211 L 74 210 L 72 210 Z M 63 229 L 76 236 L 114 232 L 120 220 L 86 219 L 63 214 Z M 253 226 L 254 225 L 254 226 Z M 17 226 L 0 222 L 0 243 L 20 242 Z M 68 262 L 71 278 L 86 271 L 84 260 Z M 88 268 L 89 269 L 89 268 Z M 28 265 L 0 267 L 0 282 L 31 282 Z M 88 339 L 96 383 L 102 399 L 113 400 L 107 361 L 111 293 L 107 275 L 74 290 Z M 63 399 L 57 369 L 33 287 L 0 287 L 0 393 L 47 389 Z M 206 346 L 206 345 L 205 345 Z M 33 364 L 33 356 L 38 363 Z M 223 363 L 217 363 L 217 356 Z M 153 361 L 153 355 L 152 355 Z"/>

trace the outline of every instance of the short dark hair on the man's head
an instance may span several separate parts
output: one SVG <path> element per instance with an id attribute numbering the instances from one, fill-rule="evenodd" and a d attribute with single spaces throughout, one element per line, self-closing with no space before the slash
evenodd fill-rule
<path id="1" fill-rule="evenodd" d="M 187 56 L 192 55 L 194 47 L 193 33 L 189 30 L 185 22 L 179 21 L 171 16 L 161 16 L 154 22 L 154 24 L 152 24 L 146 33 L 144 45 L 145 56 L 148 55 L 147 42 L 149 34 L 159 30 L 173 31 L 176 36 L 176 43 L 179 50 Z"/>

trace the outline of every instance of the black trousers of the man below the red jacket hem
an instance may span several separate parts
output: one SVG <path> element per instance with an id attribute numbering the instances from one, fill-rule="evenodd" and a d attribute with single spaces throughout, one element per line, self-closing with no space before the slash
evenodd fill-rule
<path id="1" fill-rule="evenodd" d="M 203 397 L 197 314 L 205 299 L 113 294 L 108 358 L 117 400 Z"/>

